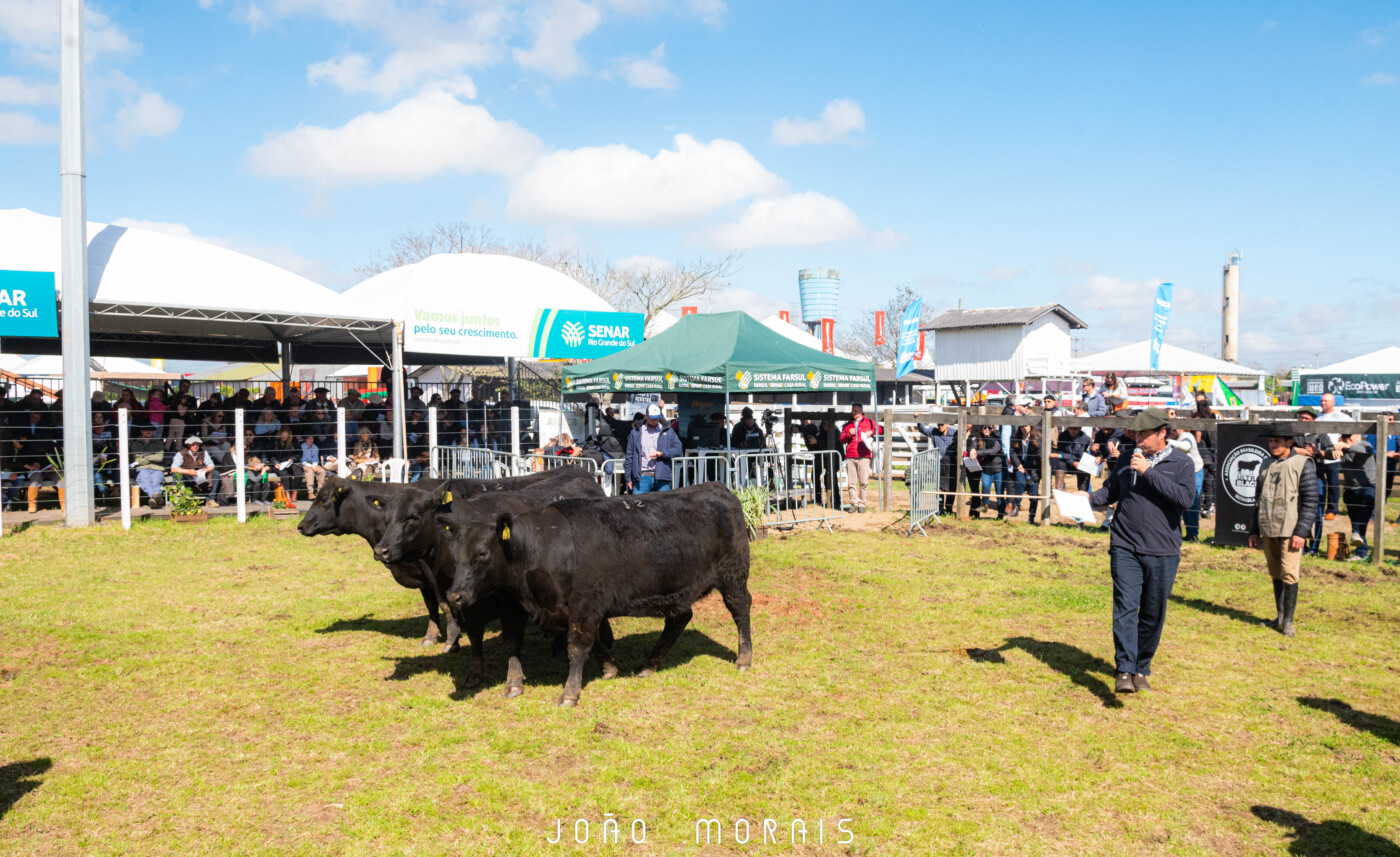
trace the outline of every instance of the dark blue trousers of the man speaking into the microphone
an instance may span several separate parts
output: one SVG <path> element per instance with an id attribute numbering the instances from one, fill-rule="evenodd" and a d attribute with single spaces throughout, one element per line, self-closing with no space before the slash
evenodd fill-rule
<path id="1" fill-rule="evenodd" d="M 1147 556 L 1109 549 L 1113 574 L 1113 661 L 1117 672 L 1152 675 L 1152 655 L 1162 641 L 1166 599 L 1180 556 Z"/>

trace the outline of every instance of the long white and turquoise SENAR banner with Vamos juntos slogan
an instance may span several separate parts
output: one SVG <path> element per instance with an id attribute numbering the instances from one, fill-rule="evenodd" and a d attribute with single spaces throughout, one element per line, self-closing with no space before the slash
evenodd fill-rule
<path id="1" fill-rule="evenodd" d="M 588 360 L 641 342 L 640 312 L 594 312 L 511 307 L 477 312 L 469 307 L 410 305 L 403 349 L 463 357 Z"/>

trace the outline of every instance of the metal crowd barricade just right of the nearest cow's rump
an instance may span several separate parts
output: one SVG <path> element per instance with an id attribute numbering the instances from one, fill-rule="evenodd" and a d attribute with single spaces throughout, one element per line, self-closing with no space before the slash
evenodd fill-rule
<path id="1" fill-rule="evenodd" d="M 729 486 L 735 492 L 767 492 L 760 527 L 820 524 L 827 529 L 843 517 L 839 475 L 841 454 L 743 452 L 734 458 Z"/>

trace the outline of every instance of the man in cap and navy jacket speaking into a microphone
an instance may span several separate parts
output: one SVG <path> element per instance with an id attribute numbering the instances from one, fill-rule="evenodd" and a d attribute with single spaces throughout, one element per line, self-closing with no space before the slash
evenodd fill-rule
<path id="1" fill-rule="evenodd" d="M 1182 513 L 1196 499 L 1196 468 L 1166 443 L 1168 427 L 1161 407 L 1133 417 L 1126 431 L 1137 444 L 1131 464 L 1114 469 L 1089 496 L 1093 506 L 1117 504 L 1109 525 L 1117 693 L 1152 689 L 1152 655 L 1182 562 Z"/>

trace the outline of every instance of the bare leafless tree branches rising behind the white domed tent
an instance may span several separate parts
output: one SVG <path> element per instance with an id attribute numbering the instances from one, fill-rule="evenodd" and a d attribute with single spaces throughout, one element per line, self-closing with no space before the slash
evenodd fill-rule
<path id="1" fill-rule="evenodd" d="M 491 230 L 465 221 L 440 223 L 428 231 L 407 231 L 389 242 L 356 272 L 374 276 L 421 262 L 435 253 L 497 253 L 529 259 L 582 283 L 617 309 L 641 312 L 650 322 L 658 312 L 683 301 L 706 297 L 738 269 L 739 253 L 720 259 L 617 267 L 578 251 L 550 249 L 540 241 L 503 241 Z"/>

